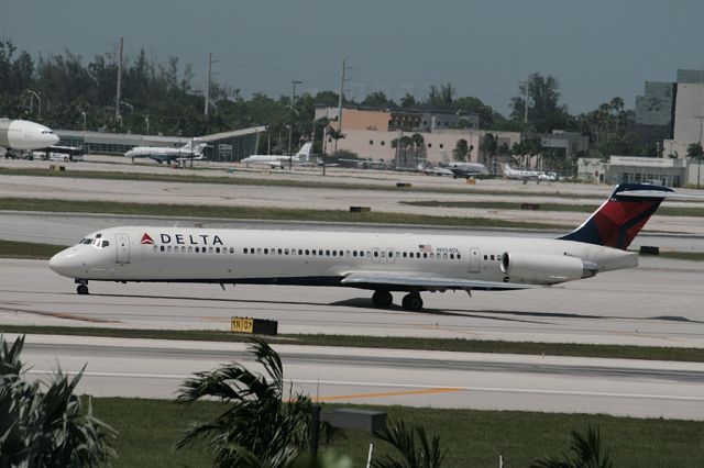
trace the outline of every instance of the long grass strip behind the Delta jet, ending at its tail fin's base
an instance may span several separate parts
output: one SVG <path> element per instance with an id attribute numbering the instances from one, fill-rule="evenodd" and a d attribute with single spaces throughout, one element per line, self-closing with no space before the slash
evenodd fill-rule
<path id="1" fill-rule="evenodd" d="M 417 224 L 430 226 L 564 229 L 570 226 L 502 221 L 488 218 L 430 216 L 387 212 L 351 213 L 343 210 L 287 210 L 262 207 L 213 207 L 188 204 L 127 203 L 116 201 L 77 201 L 51 199 L 0 198 L 0 209 L 63 213 L 110 213 L 174 218 L 217 218 L 228 220 L 317 221 L 363 224 Z M 572 226 L 573 227 L 573 226 Z"/>

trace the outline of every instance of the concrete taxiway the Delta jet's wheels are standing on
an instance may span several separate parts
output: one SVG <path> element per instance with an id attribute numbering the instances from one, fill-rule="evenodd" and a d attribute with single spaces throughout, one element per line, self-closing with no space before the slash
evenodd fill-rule
<path id="1" fill-rule="evenodd" d="M 704 347 L 703 281 L 702 263 L 644 258 L 561 288 L 425 293 L 426 310 L 408 312 L 348 288 L 91 282 L 78 296 L 46 261 L 0 259 L 0 323 L 229 330 L 234 315 L 279 333 Z"/>

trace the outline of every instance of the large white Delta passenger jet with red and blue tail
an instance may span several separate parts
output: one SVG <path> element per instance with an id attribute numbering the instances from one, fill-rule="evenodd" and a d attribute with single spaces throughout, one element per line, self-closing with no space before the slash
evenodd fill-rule
<path id="1" fill-rule="evenodd" d="M 664 198 L 660 186 L 617 186 L 580 227 L 558 238 L 324 231 L 111 227 L 56 254 L 50 268 L 88 281 L 333 286 L 404 292 L 504 291 L 557 285 L 638 265 L 626 248 Z M 685 197 L 685 196 L 680 196 Z"/>

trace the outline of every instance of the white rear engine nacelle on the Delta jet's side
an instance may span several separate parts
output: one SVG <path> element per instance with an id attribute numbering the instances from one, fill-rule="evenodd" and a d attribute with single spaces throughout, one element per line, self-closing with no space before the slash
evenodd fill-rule
<path id="1" fill-rule="evenodd" d="M 550 254 L 502 255 L 502 271 L 507 282 L 527 282 L 532 285 L 556 285 L 573 279 L 591 278 L 598 267 L 578 257 Z"/>

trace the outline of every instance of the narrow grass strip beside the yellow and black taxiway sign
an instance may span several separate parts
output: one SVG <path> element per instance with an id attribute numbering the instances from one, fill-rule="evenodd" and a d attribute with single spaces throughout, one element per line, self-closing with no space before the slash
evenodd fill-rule
<path id="1" fill-rule="evenodd" d="M 73 326 L 0 325 L 0 332 L 20 334 L 101 336 L 140 339 L 180 339 L 240 343 L 249 335 L 207 330 L 139 330 Z M 603 357 L 619 359 L 704 363 L 704 348 L 590 345 L 572 343 L 502 342 L 464 338 L 377 337 L 356 335 L 278 335 L 271 343 L 306 346 L 343 346 L 385 349 L 425 349 L 461 353 Z"/>

